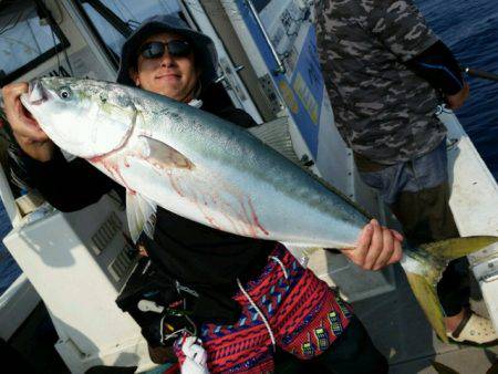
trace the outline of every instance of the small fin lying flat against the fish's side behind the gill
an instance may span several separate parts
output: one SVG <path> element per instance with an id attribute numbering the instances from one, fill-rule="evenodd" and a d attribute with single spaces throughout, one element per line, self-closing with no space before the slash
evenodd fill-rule
<path id="1" fill-rule="evenodd" d="M 141 135 L 139 138 L 145 143 L 145 147 L 142 149 L 143 157 L 154 166 L 163 169 L 194 168 L 194 164 L 188 157 L 169 145 L 146 135 Z"/>

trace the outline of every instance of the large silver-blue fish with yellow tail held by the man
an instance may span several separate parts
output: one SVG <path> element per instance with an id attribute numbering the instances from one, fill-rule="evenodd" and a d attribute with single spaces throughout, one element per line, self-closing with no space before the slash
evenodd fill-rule
<path id="1" fill-rule="evenodd" d="M 167 97 L 107 82 L 43 77 L 21 97 L 48 136 L 127 189 L 132 237 L 152 236 L 156 205 L 241 236 L 310 248 L 353 248 L 370 221 L 354 202 L 249 132 Z M 498 241 L 452 239 L 402 266 L 438 336 L 435 285 L 448 261 Z"/>

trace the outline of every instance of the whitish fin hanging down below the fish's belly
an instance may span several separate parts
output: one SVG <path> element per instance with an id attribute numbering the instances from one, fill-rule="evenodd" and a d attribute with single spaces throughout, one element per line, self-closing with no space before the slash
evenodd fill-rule
<path id="1" fill-rule="evenodd" d="M 157 205 L 146 197 L 126 190 L 126 218 L 133 242 L 136 243 L 142 231 L 154 238 Z"/>

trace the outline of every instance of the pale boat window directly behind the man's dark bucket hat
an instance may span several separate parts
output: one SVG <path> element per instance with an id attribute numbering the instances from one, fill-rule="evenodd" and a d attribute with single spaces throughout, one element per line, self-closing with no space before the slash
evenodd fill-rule
<path id="1" fill-rule="evenodd" d="M 118 63 L 121 48 L 126 37 L 143 20 L 155 14 L 179 14 L 177 0 L 79 0 L 111 55 Z"/>

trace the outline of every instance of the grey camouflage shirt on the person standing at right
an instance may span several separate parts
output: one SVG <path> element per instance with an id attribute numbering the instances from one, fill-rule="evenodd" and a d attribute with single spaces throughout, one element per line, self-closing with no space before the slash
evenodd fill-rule
<path id="1" fill-rule="evenodd" d="M 445 137 L 437 94 L 404 62 L 438 38 L 411 0 L 318 0 L 317 40 L 336 126 L 381 164 L 422 156 Z"/>

